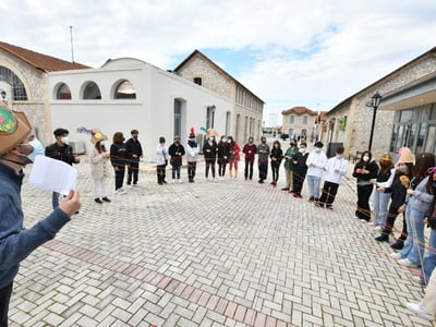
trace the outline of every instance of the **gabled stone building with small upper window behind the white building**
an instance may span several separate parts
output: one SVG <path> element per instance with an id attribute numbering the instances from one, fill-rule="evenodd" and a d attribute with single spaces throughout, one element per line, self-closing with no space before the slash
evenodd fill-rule
<path id="1" fill-rule="evenodd" d="M 250 136 L 259 140 L 264 101 L 250 89 L 198 50 L 180 63 L 174 73 L 234 101 L 233 109 L 227 113 L 226 129 L 221 133 L 233 135 L 240 143 L 246 142 Z M 207 116 L 211 117 L 214 110 L 207 108 Z"/>

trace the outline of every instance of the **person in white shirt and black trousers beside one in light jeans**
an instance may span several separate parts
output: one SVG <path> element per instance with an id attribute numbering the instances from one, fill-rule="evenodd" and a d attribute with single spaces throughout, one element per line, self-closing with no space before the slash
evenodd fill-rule
<path id="1" fill-rule="evenodd" d="M 326 178 L 323 186 L 323 194 L 318 202 L 315 203 L 318 207 L 332 209 L 335 196 L 338 193 L 342 177 L 348 171 L 348 161 L 343 158 L 343 147 L 336 148 L 336 156 L 328 159 L 326 166 Z"/>

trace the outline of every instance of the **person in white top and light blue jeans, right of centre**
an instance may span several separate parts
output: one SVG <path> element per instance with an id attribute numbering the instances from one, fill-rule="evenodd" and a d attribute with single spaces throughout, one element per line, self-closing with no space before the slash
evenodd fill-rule
<path id="1" fill-rule="evenodd" d="M 317 141 L 314 144 L 315 148 L 308 154 L 307 166 L 307 186 L 308 186 L 308 202 L 317 202 L 319 199 L 319 186 L 323 178 L 324 168 L 327 166 L 327 156 L 322 152 L 323 142 Z"/>

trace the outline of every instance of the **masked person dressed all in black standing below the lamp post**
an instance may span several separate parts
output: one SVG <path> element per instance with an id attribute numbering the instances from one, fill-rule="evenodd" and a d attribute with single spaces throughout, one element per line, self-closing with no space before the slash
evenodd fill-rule
<path id="1" fill-rule="evenodd" d="M 371 220 L 370 197 L 374 190 L 374 184 L 370 181 L 377 178 L 378 165 L 372 160 L 371 152 L 362 153 L 362 156 L 353 169 L 353 177 L 358 179 L 358 208 L 355 217 L 366 221 Z"/>

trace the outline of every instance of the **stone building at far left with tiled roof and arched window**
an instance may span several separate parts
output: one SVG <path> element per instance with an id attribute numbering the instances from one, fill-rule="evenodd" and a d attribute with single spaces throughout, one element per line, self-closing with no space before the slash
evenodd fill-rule
<path id="1" fill-rule="evenodd" d="M 14 110 L 26 112 L 43 142 L 52 140 L 47 102 L 49 72 L 80 70 L 86 65 L 68 62 L 0 41 L 0 90 Z"/>

